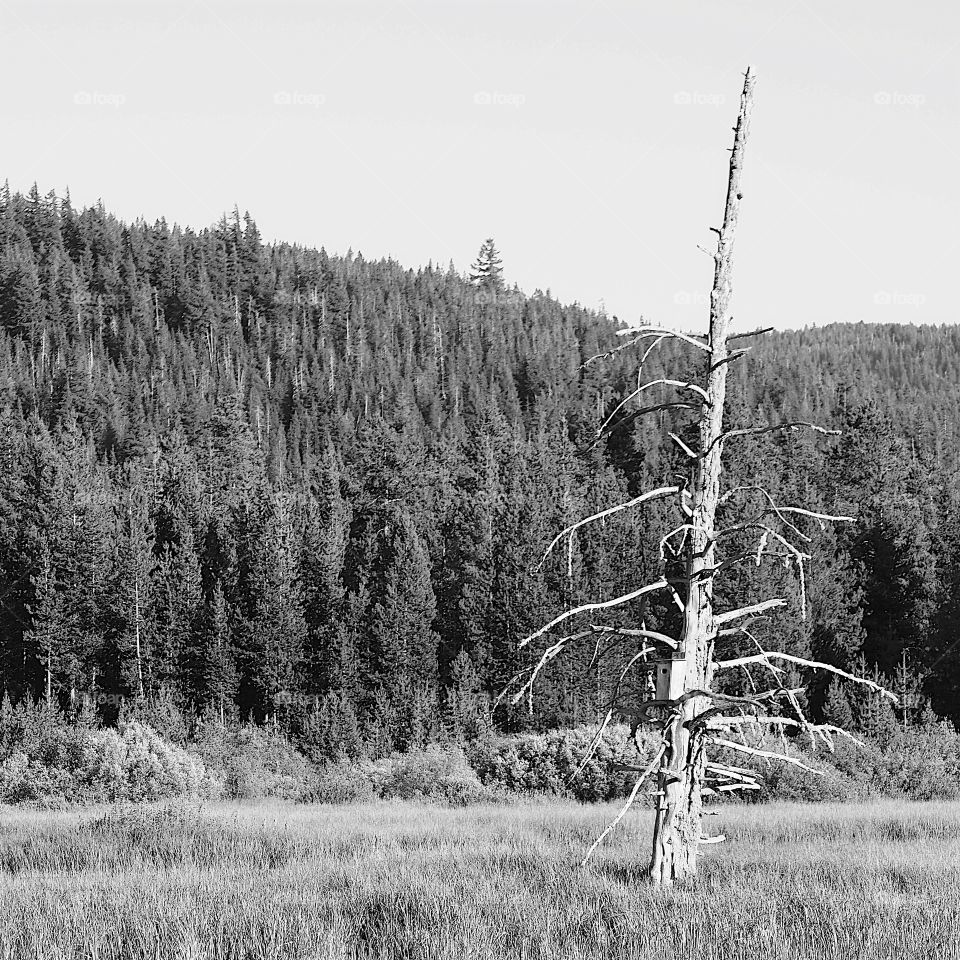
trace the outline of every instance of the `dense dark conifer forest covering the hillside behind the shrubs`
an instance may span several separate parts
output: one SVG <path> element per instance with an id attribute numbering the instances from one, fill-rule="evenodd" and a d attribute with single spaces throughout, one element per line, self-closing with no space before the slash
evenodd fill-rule
<path id="1" fill-rule="evenodd" d="M 566 523 L 671 478 L 667 434 L 685 420 L 627 407 L 595 443 L 635 386 L 636 352 L 584 365 L 622 344 L 615 320 L 495 269 L 265 245 L 236 212 L 195 232 L 5 190 L 0 328 L 0 671 L 14 700 L 86 698 L 109 719 L 122 699 L 166 697 L 381 754 L 486 722 L 539 652 L 519 638 L 659 569 L 665 508 L 585 529 L 539 565 Z M 758 634 L 891 676 L 906 651 L 934 708 L 960 718 L 960 328 L 743 345 L 731 426 L 844 434 L 731 441 L 726 482 L 858 522 L 805 528 L 805 610 L 795 570 L 751 564 L 723 601 L 789 591 Z M 690 360 L 664 343 L 645 371 L 683 377 Z M 666 628 L 672 601 L 606 622 L 641 616 Z M 532 719 L 508 705 L 497 722 L 594 720 L 618 664 L 592 652 L 544 674 Z M 811 705 L 861 726 L 873 709 L 822 684 Z"/>

